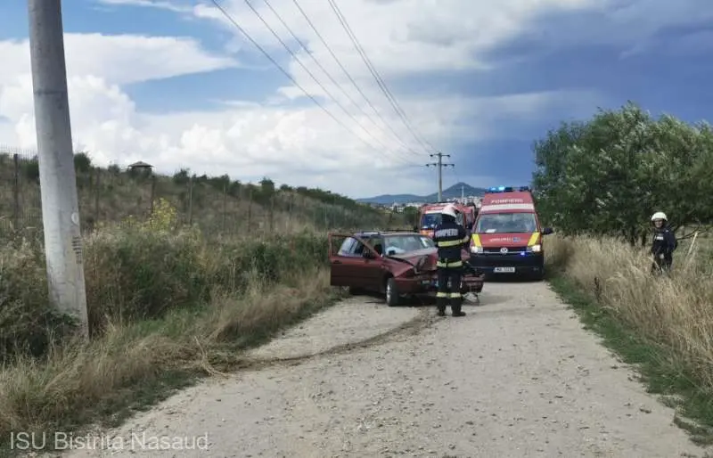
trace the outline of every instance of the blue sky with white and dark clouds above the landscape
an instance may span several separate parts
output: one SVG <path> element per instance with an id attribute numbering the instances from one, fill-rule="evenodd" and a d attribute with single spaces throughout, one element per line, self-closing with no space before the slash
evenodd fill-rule
<path id="1" fill-rule="evenodd" d="M 530 144 L 561 120 L 713 106 L 710 0 L 332 1 L 340 16 L 222 0 L 229 20 L 204 0 L 65 0 L 74 143 L 102 165 L 365 197 L 435 191 L 434 150 L 446 185 L 527 184 Z M 27 24 L 27 2 L 0 2 L 0 144 L 31 149 Z"/>

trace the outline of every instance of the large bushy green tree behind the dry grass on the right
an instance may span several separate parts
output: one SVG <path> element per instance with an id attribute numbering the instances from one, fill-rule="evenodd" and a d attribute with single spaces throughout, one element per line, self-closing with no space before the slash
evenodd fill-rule
<path id="1" fill-rule="evenodd" d="M 643 240 L 652 212 L 681 225 L 713 219 L 713 133 L 634 103 L 562 124 L 534 143 L 533 185 L 542 217 L 563 233 Z"/>

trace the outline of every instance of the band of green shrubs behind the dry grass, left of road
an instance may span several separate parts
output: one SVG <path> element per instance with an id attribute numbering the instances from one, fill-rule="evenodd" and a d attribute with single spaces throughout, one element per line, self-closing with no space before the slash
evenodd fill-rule
<path id="1" fill-rule="evenodd" d="M 296 273 L 324 266 L 326 239 L 314 233 L 217 242 L 176 224 L 175 209 L 159 201 L 148 221 L 103 227 L 86 238 L 93 335 L 112 324 L 198 307 L 217 294 L 240 294 L 256 278 L 266 285 L 289 282 Z M 42 247 L 0 249 L 0 361 L 17 352 L 44 354 L 53 336 L 66 335 L 70 324 L 47 303 Z"/>

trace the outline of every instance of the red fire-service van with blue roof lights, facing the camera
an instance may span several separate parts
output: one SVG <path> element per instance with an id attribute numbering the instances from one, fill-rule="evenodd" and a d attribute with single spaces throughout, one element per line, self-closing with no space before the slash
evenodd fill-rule
<path id="1" fill-rule="evenodd" d="M 528 186 L 497 186 L 483 197 L 471 233 L 471 265 L 486 274 L 524 274 L 542 280 L 542 227 Z"/>

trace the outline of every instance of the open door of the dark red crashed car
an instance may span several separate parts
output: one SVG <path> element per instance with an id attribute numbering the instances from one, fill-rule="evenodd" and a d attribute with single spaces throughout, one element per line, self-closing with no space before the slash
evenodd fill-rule
<path id="1" fill-rule="evenodd" d="M 367 288 L 367 273 L 372 259 L 364 258 L 365 243 L 351 234 L 330 234 L 330 284 Z M 334 249 L 335 242 L 343 238 L 339 249 Z"/>

